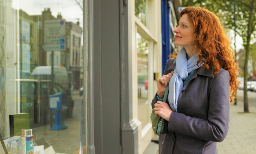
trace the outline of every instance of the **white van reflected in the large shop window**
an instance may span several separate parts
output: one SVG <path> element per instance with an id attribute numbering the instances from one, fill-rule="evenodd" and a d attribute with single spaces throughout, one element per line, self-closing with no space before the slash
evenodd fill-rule
<path id="1" fill-rule="evenodd" d="M 66 67 L 54 66 L 54 81 L 63 87 L 63 90 L 68 90 L 68 72 Z M 31 73 L 34 79 L 51 79 L 51 66 L 37 66 Z"/>

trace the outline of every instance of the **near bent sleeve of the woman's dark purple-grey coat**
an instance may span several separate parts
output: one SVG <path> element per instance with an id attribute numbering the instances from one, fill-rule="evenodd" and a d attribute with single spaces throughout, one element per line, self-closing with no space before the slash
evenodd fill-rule
<path id="1" fill-rule="evenodd" d="M 214 77 L 210 88 L 207 120 L 172 112 L 168 130 L 201 140 L 222 142 L 228 133 L 229 119 L 229 72 L 222 70 L 218 76 Z"/>

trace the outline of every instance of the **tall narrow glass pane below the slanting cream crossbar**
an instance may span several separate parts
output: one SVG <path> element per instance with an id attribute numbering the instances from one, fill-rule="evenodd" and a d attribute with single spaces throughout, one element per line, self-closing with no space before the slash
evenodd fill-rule
<path id="1" fill-rule="evenodd" d="M 140 34 L 136 34 L 137 43 L 137 75 L 138 75 L 138 119 L 142 128 L 148 123 L 148 53 L 149 42 Z"/>

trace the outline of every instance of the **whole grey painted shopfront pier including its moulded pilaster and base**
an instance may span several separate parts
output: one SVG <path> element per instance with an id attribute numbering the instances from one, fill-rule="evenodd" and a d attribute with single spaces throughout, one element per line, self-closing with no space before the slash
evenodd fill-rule
<path id="1" fill-rule="evenodd" d="M 132 119 L 126 0 L 94 0 L 94 145 L 96 154 L 137 154 Z"/>

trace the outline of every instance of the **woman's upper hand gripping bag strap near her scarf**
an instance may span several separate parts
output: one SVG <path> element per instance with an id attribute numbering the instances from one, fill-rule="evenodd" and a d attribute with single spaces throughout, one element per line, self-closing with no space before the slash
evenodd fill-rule
<path id="1" fill-rule="evenodd" d="M 170 79 L 173 76 L 173 72 L 157 79 L 158 96 L 160 99 L 164 98 L 165 88 L 168 86 Z"/>

